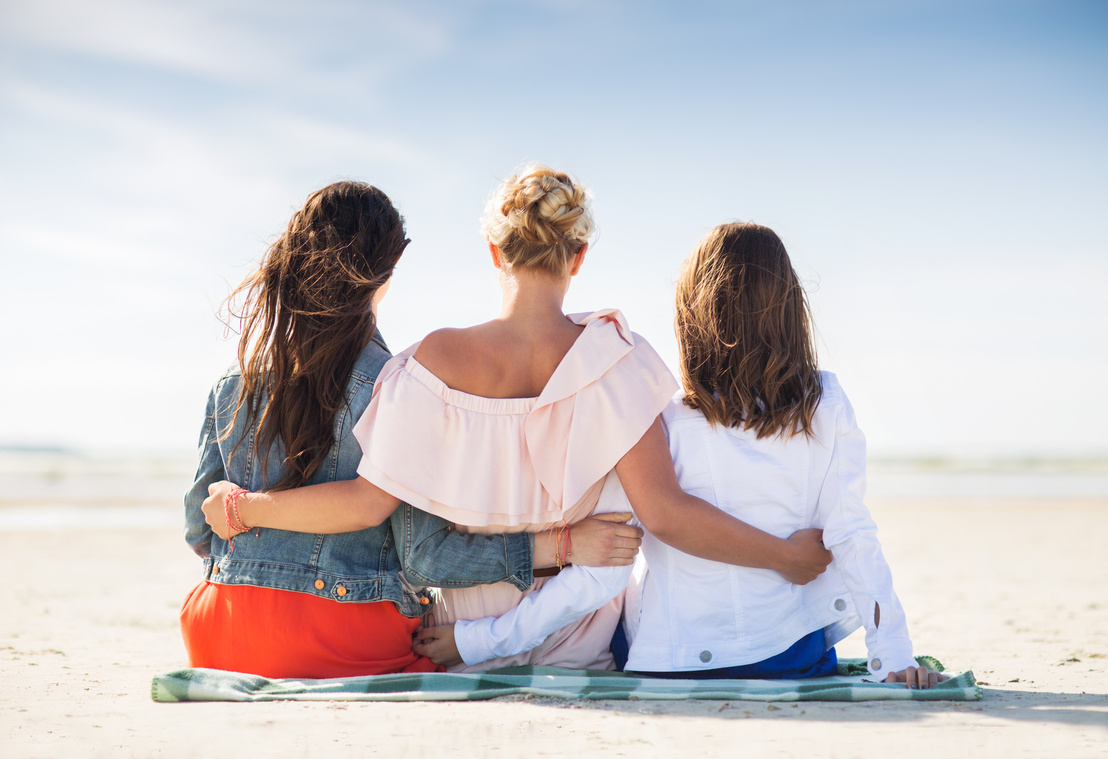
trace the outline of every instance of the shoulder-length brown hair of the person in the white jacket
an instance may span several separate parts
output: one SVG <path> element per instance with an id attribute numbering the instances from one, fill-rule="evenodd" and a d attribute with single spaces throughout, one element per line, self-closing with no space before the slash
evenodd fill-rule
<path id="1" fill-rule="evenodd" d="M 789 254 L 769 227 L 725 224 L 677 283 L 685 404 L 759 439 L 811 434 L 823 388 L 811 311 Z"/>

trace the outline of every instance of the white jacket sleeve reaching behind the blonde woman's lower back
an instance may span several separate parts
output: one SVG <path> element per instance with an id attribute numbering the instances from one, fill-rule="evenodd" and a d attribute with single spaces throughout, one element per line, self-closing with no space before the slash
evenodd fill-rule
<path id="1" fill-rule="evenodd" d="M 615 471 L 608 473 L 594 514 L 629 512 L 630 503 Z M 462 660 L 480 664 L 499 656 L 531 650 L 555 630 L 595 612 L 627 586 L 630 566 L 566 567 L 499 617 L 454 623 L 454 642 Z"/>

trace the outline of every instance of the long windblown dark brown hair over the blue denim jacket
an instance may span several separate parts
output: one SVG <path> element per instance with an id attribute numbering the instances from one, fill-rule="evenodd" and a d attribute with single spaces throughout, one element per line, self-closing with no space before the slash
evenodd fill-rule
<path id="1" fill-rule="evenodd" d="M 243 386 L 225 434 L 239 413 L 247 429 L 257 422 L 252 448 L 264 451 L 263 468 L 280 443 L 281 478 L 270 490 L 307 484 L 326 461 L 353 365 L 377 328 L 373 295 L 408 243 L 384 193 L 338 182 L 308 196 L 227 299 L 242 321 Z"/>

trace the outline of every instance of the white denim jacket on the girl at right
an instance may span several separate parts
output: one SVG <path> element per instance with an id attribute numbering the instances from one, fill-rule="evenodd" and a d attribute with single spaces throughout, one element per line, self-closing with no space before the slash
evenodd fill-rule
<path id="1" fill-rule="evenodd" d="M 627 669 L 752 664 L 818 629 L 831 647 L 859 624 L 876 678 L 915 666 L 904 611 L 863 503 L 865 438 L 835 376 L 823 372 L 822 382 L 811 437 L 758 440 L 753 432 L 712 427 L 680 399 L 663 413 L 681 488 L 779 537 L 822 527 L 834 561 L 799 586 L 769 570 L 690 556 L 647 533 L 648 571 L 636 573 L 625 607 Z"/>

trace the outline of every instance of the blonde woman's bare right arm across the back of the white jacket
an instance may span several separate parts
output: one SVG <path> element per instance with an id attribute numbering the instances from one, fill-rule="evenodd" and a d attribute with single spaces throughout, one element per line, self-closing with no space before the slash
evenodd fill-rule
<path id="1" fill-rule="evenodd" d="M 643 526 L 678 551 L 772 570 L 798 585 L 815 579 L 831 563 L 819 531 L 776 537 L 681 490 L 660 420 L 619 460 L 616 473 Z"/>

